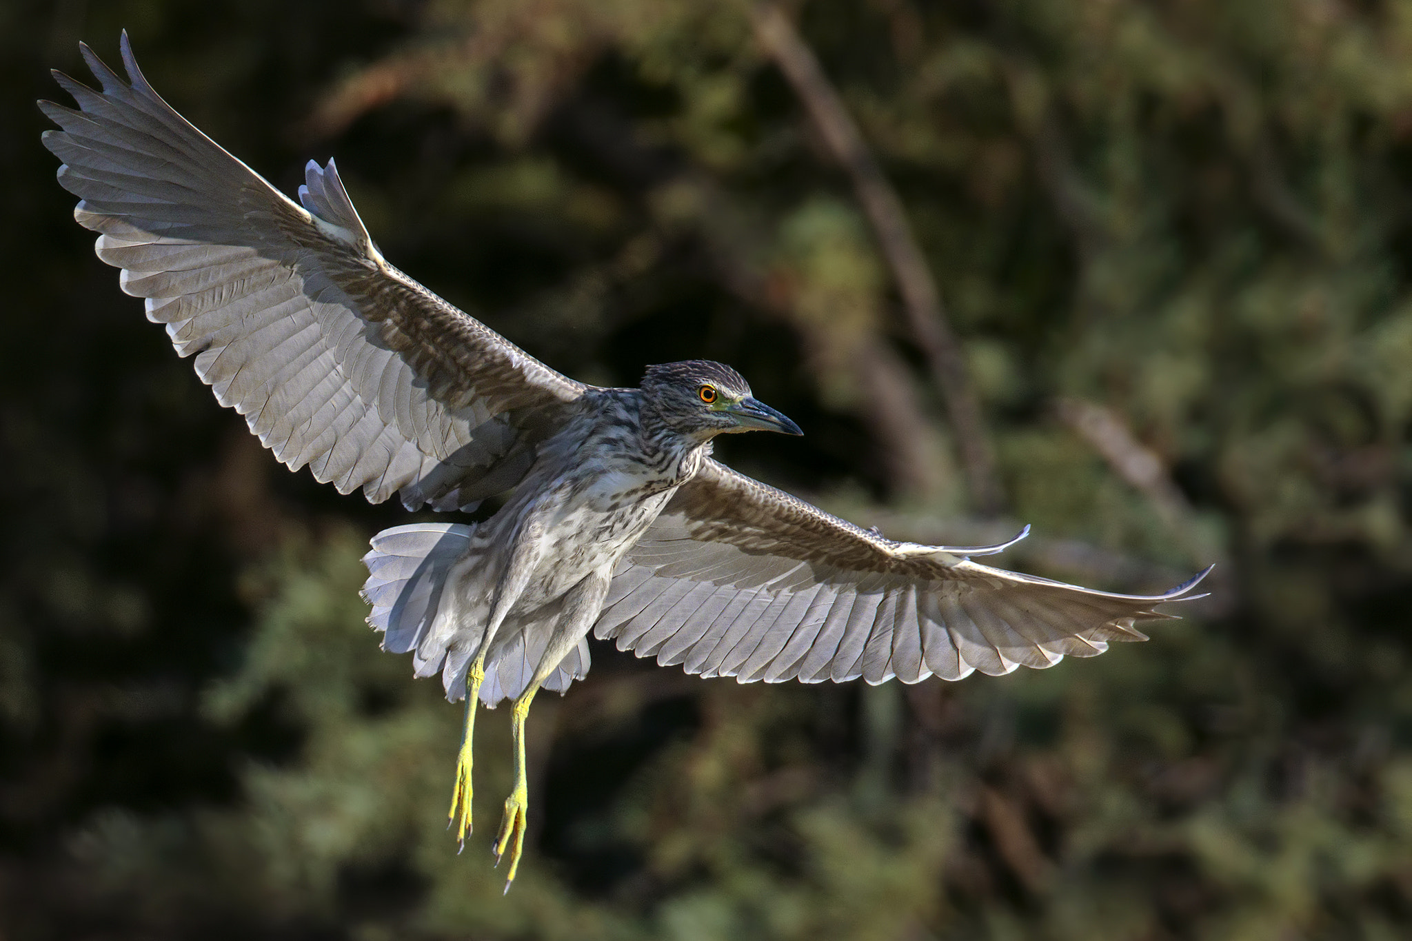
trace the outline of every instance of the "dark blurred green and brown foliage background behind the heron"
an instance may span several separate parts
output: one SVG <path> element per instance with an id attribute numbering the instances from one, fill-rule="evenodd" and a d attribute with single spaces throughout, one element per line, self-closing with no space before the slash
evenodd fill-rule
<path id="1" fill-rule="evenodd" d="M 3 941 L 1412 937 L 1412 3 L 809 0 L 788 48 L 758 16 L 0 4 Z M 894 538 L 1031 522 L 1003 564 L 1096 587 L 1216 561 L 1213 597 L 957 684 L 596 645 L 535 704 L 500 897 L 505 711 L 457 856 L 460 708 L 363 625 L 408 516 L 277 466 L 54 181 L 47 69 L 123 27 L 199 127 L 285 190 L 336 155 L 395 264 L 556 368 L 738 367 L 808 432 L 727 442 L 747 473 Z"/>

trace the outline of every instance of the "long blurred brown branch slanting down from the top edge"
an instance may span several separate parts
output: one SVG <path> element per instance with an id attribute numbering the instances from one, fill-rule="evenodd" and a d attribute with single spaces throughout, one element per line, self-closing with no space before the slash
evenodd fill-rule
<path id="1" fill-rule="evenodd" d="M 971 502 L 977 512 L 993 515 L 1004 504 L 995 454 L 986 435 L 980 401 L 967 377 L 960 344 L 946 319 L 940 292 L 916 244 L 902 202 L 882 175 L 882 168 L 863 141 L 839 93 L 829 83 L 819 59 L 789 17 L 774 3 L 757 3 L 751 7 L 751 23 L 755 38 L 779 66 L 829 151 L 853 181 L 858 202 L 897 279 L 912 334 L 926 356 L 946 402 Z"/>

